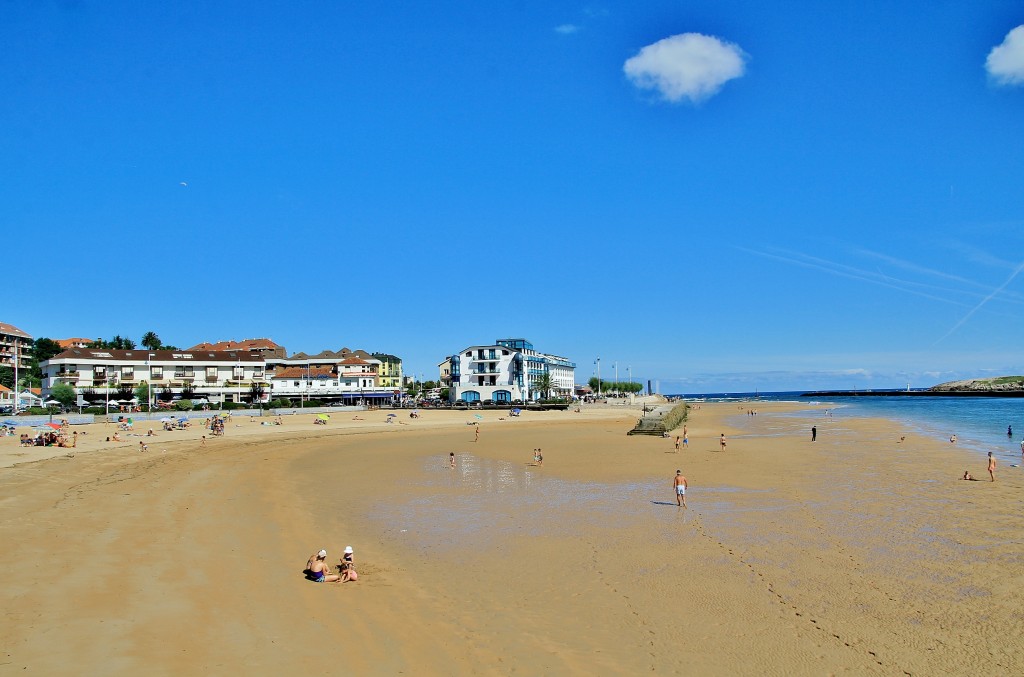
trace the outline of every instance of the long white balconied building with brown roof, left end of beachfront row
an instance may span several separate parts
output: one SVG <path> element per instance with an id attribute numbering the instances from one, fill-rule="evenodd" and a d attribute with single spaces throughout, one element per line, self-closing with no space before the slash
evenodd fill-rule
<path id="1" fill-rule="evenodd" d="M 143 383 L 154 400 L 184 391 L 191 399 L 241 403 L 249 401 L 253 384 L 269 390 L 263 357 L 247 350 L 70 348 L 40 367 L 44 397 L 57 383 L 67 383 L 83 405 L 123 399 Z"/>

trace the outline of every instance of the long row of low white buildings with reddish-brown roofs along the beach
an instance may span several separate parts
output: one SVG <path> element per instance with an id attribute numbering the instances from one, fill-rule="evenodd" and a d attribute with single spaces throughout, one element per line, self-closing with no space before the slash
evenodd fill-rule
<path id="1" fill-rule="evenodd" d="M 268 345 L 269 344 L 269 345 Z M 268 339 L 204 343 L 188 350 L 104 350 L 72 347 L 41 365 L 43 392 L 73 386 L 80 404 L 131 398 L 145 384 L 154 398 L 210 403 L 260 398 L 318 399 L 337 404 L 400 398 L 401 361 L 362 350 L 325 350 L 285 356 Z"/>

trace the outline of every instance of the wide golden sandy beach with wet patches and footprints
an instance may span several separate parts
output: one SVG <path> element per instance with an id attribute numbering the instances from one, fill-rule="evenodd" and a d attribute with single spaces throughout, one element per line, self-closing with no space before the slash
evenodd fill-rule
<path id="1" fill-rule="evenodd" d="M 679 453 L 622 407 L 0 439 L 0 674 L 1024 671 L 1021 468 L 742 407 Z M 346 545 L 358 582 L 304 579 Z"/>

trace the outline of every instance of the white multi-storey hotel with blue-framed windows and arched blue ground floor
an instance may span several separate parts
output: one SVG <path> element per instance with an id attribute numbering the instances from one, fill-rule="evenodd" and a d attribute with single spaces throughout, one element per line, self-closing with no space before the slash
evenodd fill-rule
<path id="1" fill-rule="evenodd" d="M 538 352 L 525 339 L 498 339 L 493 345 L 472 345 L 451 355 L 442 365 L 451 370 L 452 401 L 531 401 L 545 395 L 537 379 L 551 376 L 552 394 L 571 396 L 575 364 L 565 357 Z"/>

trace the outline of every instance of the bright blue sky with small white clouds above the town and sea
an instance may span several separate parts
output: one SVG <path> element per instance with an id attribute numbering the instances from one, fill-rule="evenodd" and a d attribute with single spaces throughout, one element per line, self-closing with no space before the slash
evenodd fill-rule
<path id="1" fill-rule="evenodd" d="M 1024 373 L 1019 2 L 0 2 L 0 321 Z M 1015 31 L 1017 29 L 1017 31 Z"/>

